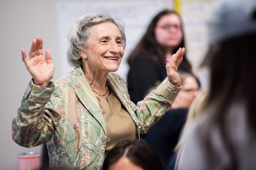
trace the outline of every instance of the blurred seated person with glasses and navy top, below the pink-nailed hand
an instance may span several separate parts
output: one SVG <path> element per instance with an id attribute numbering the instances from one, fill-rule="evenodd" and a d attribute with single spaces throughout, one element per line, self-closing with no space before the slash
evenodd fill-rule
<path id="1" fill-rule="evenodd" d="M 188 108 L 199 93 L 199 82 L 191 73 L 178 72 L 182 88 L 172 107 L 154 124 L 146 134 L 141 134 L 141 140 L 146 141 L 167 166 L 177 145 L 180 131 L 186 121 Z"/>

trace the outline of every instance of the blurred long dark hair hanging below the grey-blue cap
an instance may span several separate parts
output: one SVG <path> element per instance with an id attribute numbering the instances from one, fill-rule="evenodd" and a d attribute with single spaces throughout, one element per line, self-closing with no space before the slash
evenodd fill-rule
<path id="1" fill-rule="evenodd" d="M 209 135 L 212 126 L 220 128 L 224 147 L 227 149 L 231 163 L 227 169 L 239 167 L 236 147 L 232 145 L 230 129 L 227 128 L 228 110 L 234 102 L 242 102 L 249 128 L 256 132 L 256 34 L 240 36 L 212 46 L 207 57 L 211 58 L 211 82 L 206 106 L 214 103 L 214 114 L 208 129 L 204 133 L 204 143 L 209 153 L 208 160 L 218 160 Z M 203 130 L 202 130 L 203 131 Z M 239 146 L 238 146 L 239 147 Z"/>

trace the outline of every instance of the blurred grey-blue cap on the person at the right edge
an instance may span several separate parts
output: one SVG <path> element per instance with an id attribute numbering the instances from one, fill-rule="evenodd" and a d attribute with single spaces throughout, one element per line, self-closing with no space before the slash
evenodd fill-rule
<path id="1" fill-rule="evenodd" d="M 208 20 L 209 45 L 256 33 L 256 0 L 220 0 Z"/>

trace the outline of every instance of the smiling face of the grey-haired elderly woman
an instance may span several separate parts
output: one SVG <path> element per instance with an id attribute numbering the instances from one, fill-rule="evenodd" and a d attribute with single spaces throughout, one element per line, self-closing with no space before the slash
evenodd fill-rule
<path id="1" fill-rule="evenodd" d="M 83 58 L 85 68 L 103 72 L 115 72 L 124 55 L 122 36 L 114 23 L 105 22 L 90 28 Z"/>

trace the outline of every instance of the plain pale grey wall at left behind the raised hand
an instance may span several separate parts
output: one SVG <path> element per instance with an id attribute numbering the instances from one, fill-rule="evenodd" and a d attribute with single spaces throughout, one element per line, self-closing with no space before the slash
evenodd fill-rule
<path id="1" fill-rule="evenodd" d="M 59 52 L 56 4 L 60 1 L 0 1 L 0 169 L 18 169 L 17 154 L 27 151 L 27 148 L 17 145 L 11 135 L 12 118 L 17 114 L 21 97 L 31 79 L 21 60 L 20 49 L 28 52 L 32 39 L 43 37 L 44 51 L 51 50 L 55 64 L 53 80 L 61 76 L 60 61 L 66 60 L 66 56 L 60 56 Z M 166 7 L 172 6 L 172 0 L 163 1 Z M 28 150 L 41 152 L 41 147 Z"/>

